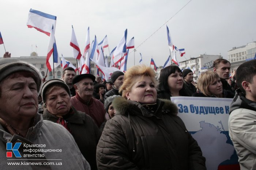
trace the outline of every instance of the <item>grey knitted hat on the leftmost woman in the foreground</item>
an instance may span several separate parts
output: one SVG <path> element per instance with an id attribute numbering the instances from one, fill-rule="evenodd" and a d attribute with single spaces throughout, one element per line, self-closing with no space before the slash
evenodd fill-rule
<path id="1" fill-rule="evenodd" d="M 39 93 L 41 87 L 41 74 L 37 68 L 32 64 L 23 62 L 19 59 L 14 58 L 3 58 L 0 59 L 0 82 L 3 81 L 7 76 L 20 71 L 27 71 L 33 74 L 32 78 L 37 84 L 37 92 Z"/>

